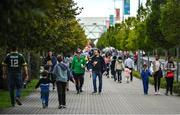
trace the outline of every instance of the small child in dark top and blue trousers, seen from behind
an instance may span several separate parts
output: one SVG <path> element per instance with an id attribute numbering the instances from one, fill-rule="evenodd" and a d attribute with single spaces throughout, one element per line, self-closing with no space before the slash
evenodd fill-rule
<path id="1" fill-rule="evenodd" d="M 52 83 L 51 80 L 48 79 L 48 71 L 44 70 L 42 72 L 42 78 L 39 80 L 35 88 L 37 89 L 40 86 L 41 89 L 41 99 L 43 108 L 48 107 L 49 101 L 49 84 Z"/>

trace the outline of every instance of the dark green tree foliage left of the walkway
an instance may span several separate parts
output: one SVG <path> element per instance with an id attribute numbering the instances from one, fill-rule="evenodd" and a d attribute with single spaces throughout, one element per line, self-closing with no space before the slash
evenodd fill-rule
<path id="1" fill-rule="evenodd" d="M 86 36 L 75 18 L 80 10 L 73 0 L 1 0 L 0 45 L 34 51 L 84 46 Z"/>

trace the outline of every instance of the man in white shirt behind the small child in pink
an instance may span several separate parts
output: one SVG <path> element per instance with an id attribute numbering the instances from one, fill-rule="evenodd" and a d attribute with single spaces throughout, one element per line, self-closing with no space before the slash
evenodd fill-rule
<path id="1" fill-rule="evenodd" d="M 128 56 L 128 58 L 124 61 L 124 66 L 131 70 L 130 80 L 133 81 L 132 70 L 134 68 L 134 61 L 130 58 L 129 55 L 127 55 L 127 56 Z"/>

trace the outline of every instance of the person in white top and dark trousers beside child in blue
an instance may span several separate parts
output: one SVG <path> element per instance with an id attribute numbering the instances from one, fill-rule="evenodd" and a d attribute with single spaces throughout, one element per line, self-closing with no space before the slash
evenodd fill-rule
<path id="1" fill-rule="evenodd" d="M 155 60 L 152 62 L 153 67 L 153 77 L 154 77 L 154 89 L 155 89 L 155 95 L 160 94 L 160 84 L 161 84 L 161 78 L 163 76 L 162 70 L 161 70 L 161 62 L 159 61 L 159 56 L 155 56 Z"/>

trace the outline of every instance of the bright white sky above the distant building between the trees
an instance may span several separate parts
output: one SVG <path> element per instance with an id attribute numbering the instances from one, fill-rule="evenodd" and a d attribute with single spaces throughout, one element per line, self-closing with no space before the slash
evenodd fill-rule
<path id="1" fill-rule="evenodd" d="M 74 0 L 77 6 L 83 7 L 82 13 L 78 17 L 109 17 L 115 14 L 114 8 L 120 8 L 122 16 L 122 0 Z M 141 0 L 145 2 L 145 0 Z M 138 0 L 130 0 L 130 16 L 136 16 Z"/>

